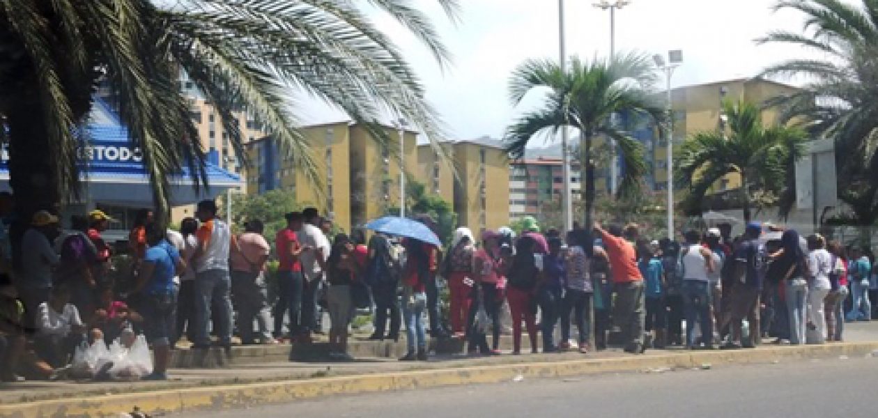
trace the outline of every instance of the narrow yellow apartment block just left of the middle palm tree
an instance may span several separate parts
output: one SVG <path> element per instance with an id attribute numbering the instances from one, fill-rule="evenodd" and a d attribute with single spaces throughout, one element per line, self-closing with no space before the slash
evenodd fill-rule
<path id="1" fill-rule="evenodd" d="M 479 138 L 454 144 L 458 224 L 478 234 L 509 223 L 509 160 L 500 141 Z"/>

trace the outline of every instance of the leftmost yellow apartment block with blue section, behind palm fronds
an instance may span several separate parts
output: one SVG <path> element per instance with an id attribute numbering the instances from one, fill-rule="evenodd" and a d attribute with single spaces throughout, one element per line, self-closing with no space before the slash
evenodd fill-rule
<path id="1" fill-rule="evenodd" d="M 350 231 L 349 122 L 304 126 L 299 130 L 313 151 L 317 182 L 285 156 L 277 141 L 256 139 L 246 146 L 248 193 L 289 191 L 300 205 L 316 207 L 338 227 Z"/>

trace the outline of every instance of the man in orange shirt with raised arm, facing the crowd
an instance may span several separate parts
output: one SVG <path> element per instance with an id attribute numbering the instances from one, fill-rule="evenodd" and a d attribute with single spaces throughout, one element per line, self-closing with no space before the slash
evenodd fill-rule
<path id="1" fill-rule="evenodd" d="M 634 245 L 623 238 L 621 227 L 610 226 L 604 230 L 600 222 L 594 223 L 594 230 L 601 235 L 606 248 L 610 270 L 613 273 L 615 292 L 615 323 L 622 328 L 624 350 L 640 354 L 644 346 L 644 277 L 637 268 L 637 251 Z"/>

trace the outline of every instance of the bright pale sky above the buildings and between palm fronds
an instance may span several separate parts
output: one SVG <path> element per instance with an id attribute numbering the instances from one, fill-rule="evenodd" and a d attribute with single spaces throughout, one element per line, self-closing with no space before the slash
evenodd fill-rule
<path id="1" fill-rule="evenodd" d="M 558 1 L 460 0 L 459 22 L 444 17 L 432 0 L 412 3 L 433 17 L 453 54 L 440 68 L 423 47 L 392 18 L 375 14 L 378 28 L 397 42 L 427 87 L 428 101 L 448 126 L 452 139 L 487 135 L 500 138 L 515 115 L 538 103 L 529 95 L 510 104 L 507 81 L 529 58 L 558 59 Z M 783 59 L 810 54 L 798 47 L 758 46 L 754 40 L 776 29 L 801 31 L 802 15 L 771 10 L 775 0 L 633 0 L 615 13 L 616 52 L 661 54 L 683 51 L 674 87 L 750 77 Z M 568 55 L 609 54 L 609 11 L 594 0 L 565 0 Z M 779 80 L 784 81 L 784 80 Z M 306 118 L 340 119 L 315 106 Z"/>

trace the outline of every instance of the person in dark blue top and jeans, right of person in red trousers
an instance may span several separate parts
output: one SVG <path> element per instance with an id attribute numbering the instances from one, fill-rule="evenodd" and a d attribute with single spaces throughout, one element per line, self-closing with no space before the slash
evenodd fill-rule
<path id="1" fill-rule="evenodd" d="M 549 239 L 549 254 L 543 256 L 543 280 L 537 285 L 537 300 L 541 314 L 541 330 L 543 334 L 543 352 L 558 351 L 555 345 L 555 326 L 561 318 L 561 301 L 564 298 L 566 254 L 562 253 L 563 242 L 560 238 Z M 569 319 L 568 319 L 569 321 Z M 569 339 L 569 335 L 568 335 Z M 566 342 L 564 338 L 562 342 Z"/>

